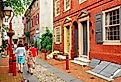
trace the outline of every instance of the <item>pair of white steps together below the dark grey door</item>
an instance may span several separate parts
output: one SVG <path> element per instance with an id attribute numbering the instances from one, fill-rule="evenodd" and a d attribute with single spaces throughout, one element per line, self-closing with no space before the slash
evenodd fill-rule
<path id="1" fill-rule="evenodd" d="M 81 66 L 84 66 L 84 65 L 89 66 L 90 60 L 83 58 L 83 57 L 79 57 L 79 58 L 74 58 L 74 60 L 71 62 L 79 64 Z"/>

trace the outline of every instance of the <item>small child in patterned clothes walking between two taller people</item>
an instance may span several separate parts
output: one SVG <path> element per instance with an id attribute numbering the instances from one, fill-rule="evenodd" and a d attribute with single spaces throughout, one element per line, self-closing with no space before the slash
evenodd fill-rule
<path id="1" fill-rule="evenodd" d="M 33 64 L 34 64 L 34 59 L 32 57 L 31 51 L 29 51 L 27 56 L 27 65 L 28 65 L 27 72 L 30 73 L 31 75 L 33 75 Z"/>

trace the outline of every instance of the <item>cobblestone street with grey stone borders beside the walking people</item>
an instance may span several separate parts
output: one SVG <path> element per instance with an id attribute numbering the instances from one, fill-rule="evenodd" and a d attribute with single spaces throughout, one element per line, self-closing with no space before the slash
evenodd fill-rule
<path id="1" fill-rule="evenodd" d="M 37 58 L 33 75 L 27 73 L 27 66 L 24 66 L 24 79 L 30 82 L 81 82 L 70 74 L 59 70 L 47 62 Z"/>

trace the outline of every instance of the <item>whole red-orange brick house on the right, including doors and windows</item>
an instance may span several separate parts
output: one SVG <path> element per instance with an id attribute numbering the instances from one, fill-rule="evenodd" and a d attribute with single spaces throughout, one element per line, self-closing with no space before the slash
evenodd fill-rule
<path id="1" fill-rule="evenodd" d="M 53 49 L 121 64 L 120 0 L 54 0 Z"/>

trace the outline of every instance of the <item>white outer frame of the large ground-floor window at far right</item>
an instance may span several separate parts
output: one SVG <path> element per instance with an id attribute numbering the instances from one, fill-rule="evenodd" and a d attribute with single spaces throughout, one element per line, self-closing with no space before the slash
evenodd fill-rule
<path id="1" fill-rule="evenodd" d="M 104 45 L 121 45 L 121 43 L 120 43 L 120 40 L 106 40 L 106 36 L 105 36 L 105 34 L 106 34 L 106 30 L 105 30 L 105 23 L 106 23 L 106 21 L 105 21 L 105 16 L 106 16 L 106 12 L 110 12 L 110 11 L 113 11 L 113 10 L 116 10 L 116 9 L 119 9 L 120 8 L 120 6 L 117 6 L 117 7 L 115 7 L 115 8 L 111 8 L 111 9 L 109 9 L 109 10 L 106 10 L 106 11 L 103 11 L 102 13 L 103 13 L 103 41 L 104 41 Z M 120 31 L 120 30 L 119 30 Z"/>

